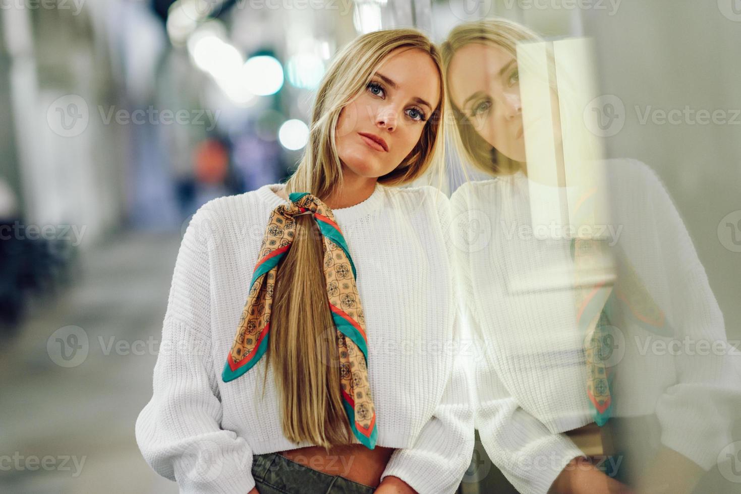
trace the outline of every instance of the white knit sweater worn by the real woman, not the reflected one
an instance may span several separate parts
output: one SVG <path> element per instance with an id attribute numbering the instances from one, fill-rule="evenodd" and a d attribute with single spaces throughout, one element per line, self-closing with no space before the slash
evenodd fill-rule
<path id="1" fill-rule="evenodd" d="M 182 239 L 136 441 L 183 493 L 246 494 L 253 454 L 312 445 L 283 435 L 271 368 L 261 398 L 265 358 L 234 381 L 221 378 L 270 212 L 285 204 L 275 187 L 207 202 Z M 365 311 L 377 444 L 398 448 L 382 476 L 419 493 L 453 493 L 473 453 L 473 409 L 456 351 L 448 198 L 431 186 L 376 184 L 365 201 L 333 213 Z"/>

